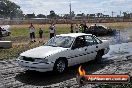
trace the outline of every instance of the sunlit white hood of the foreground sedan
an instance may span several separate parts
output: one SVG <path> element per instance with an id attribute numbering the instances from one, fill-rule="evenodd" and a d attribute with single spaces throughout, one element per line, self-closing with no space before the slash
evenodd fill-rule
<path id="1" fill-rule="evenodd" d="M 32 57 L 32 58 L 45 58 L 49 55 L 59 53 L 66 50 L 63 47 L 52 47 L 52 46 L 40 46 L 28 51 L 21 53 L 21 56 Z"/>

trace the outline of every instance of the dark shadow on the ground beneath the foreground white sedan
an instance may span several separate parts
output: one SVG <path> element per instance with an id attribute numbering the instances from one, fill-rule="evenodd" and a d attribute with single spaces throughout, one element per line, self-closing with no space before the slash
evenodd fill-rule
<path id="1" fill-rule="evenodd" d="M 103 69 L 109 63 L 107 61 L 101 63 L 95 63 L 90 61 L 88 63 L 81 64 L 82 68 L 85 69 L 87 74 L 91 74 L 96 72 L 100 69 Z M 25 83 L 27 85 L 34 85 L 34 86 L 47 86 L 56 83 L 60 83 L 66 80 L 70 80 L 75 78 L 78 73 L 78 68 L 80 65 L 69 67 L 68 70 L 63 74 L 54 74 L 53 72 L 22 72 L 16 75 L 15 79 Z"/>

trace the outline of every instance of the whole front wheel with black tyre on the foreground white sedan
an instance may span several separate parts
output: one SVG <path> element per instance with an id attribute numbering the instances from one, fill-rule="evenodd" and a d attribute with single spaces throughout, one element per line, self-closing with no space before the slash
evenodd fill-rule
<path id="1" fill-rule="evenodd" d="M 54 65 L 54 72 L 63 73 L 67 68 L 67 61 L 65 59 L 58 59 Z"/>

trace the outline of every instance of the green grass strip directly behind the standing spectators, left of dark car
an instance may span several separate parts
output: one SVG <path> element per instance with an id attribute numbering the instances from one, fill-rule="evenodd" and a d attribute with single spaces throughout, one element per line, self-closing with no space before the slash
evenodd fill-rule
<path id="1" fill-rule="evenodd" d="M 12 34 L 11 37 L 15 38 L 15 37 L 19 37 L 19 36 L 23 36 L 23 37 L 29 37 L 29 25 L 13 25 L 12 26 Z M 44 31 L 44 37 L 47 39 L 49 38 L 49 26 L 50 25 L 35 25 L 35 29 L 36 29 L 36 37 L 38 37 L 38 32 L 39 32 L 39 28 L 41 27 Z M 65 25 L 56 25 L 56 33 L 57 34 L 62 34 L 62 33 L 69 33 L 70 32 L 70 28 L 69 26 L 65 26 Z"/>

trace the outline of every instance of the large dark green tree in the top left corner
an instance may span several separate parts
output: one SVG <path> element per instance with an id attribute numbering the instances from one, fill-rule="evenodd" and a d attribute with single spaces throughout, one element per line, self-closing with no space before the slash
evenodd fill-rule
<path id="1" fill-rule="evenodd" d="M 4 18 L 10 18 L 13 17 L 20 17 L 22 15 L 22 10 L 20 9 L 20 6 L 15 4 L 14 2 L 11 2 L 9 0 L 1 0 L 0 1 L 0 15 L 2 15 Z"/>

